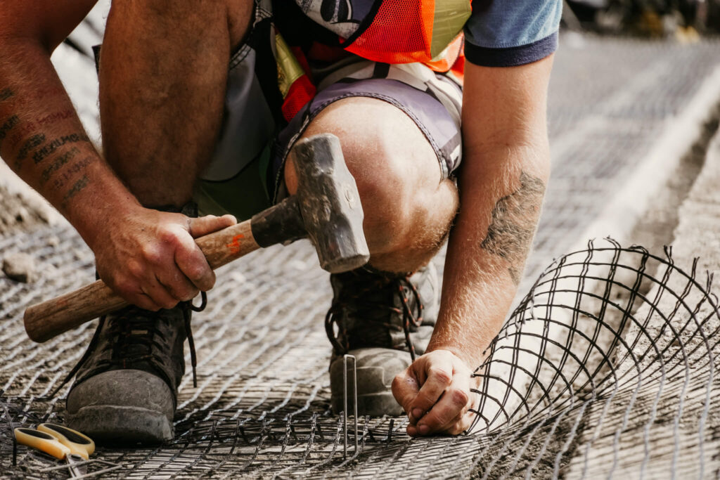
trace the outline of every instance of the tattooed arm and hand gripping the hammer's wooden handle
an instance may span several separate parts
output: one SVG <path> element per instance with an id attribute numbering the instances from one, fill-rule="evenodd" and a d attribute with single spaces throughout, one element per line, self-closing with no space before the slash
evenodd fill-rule
<path id="1" fill-rule="evenodd" d="M 112 289 L 174 307 L 215 283 L 192 238 L 235 219 L 143 208 L 89 141 L 50 54 L 95 1 L 1 0 L 0 156 L 78 230 Z"/>

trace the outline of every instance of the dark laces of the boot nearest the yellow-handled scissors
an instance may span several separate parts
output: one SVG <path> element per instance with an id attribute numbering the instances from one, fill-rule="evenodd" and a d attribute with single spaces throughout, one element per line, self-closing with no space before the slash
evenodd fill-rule
<path id="1" fill-rule="evenodd" d="M 195 354 L 195 342 L 192 338 L 192 328 L 190 326 L 190 312 L 202 312 L 207 306 L 207 295 L 201 292 L 202 301 L 199 307 L 195 307 L 192 302 L 181 302 L 179 307 L 182 309 L 183 322 L 187 335 L 187 342 L 190 348 L 190 363 L 192 364 L 192 385 L 197 388 L 197 356 Z M 93 338 L 90 340 L 88 348 L 85 350 L 82 358 L 76 366 L 68 373 L 68 375 L 60 382 L 52 393 L 50 398 L 75 376 L 80 368 L 88 361 L 99 342 L 100 332 L 104 330 L 107 317 L 100 317 L 100 322 L 95 330 Z M 147 361 L 150 364 L 162 363 L 163 359 L 157 355 L 157 351 L 163 347 L 161 340 L 165 339 L 165 335 L 158 328 L 158 319 L 152 314 L 148 314 L 147 310 L 130 306 L 118 312 L 112 324 L 109 325 L 109 335 L 114 341 L 107 343 L 106 349 L 112 350 L 110 358 L 104 358 L 97 363 L 97 370 L 103 371 L 111 366 L 121 368 L 129 368 L 133 363 Z M 162 371 L 158 368 L 158 371 Z"/>

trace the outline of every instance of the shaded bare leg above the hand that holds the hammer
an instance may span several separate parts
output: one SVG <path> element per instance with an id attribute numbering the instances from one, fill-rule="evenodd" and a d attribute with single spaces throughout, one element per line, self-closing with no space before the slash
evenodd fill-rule
<path id="1" fill-rule="evenodd" d="M 252 8 L 252 0 L 113 2 L 100 63 L 104 154 L 142 204 L 190 199 Z"/>

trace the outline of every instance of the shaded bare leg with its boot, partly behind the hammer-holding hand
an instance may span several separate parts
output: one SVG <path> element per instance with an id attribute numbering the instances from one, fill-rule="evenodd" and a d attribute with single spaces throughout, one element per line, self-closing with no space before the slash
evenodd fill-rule
<path id="1" fill-rule="evenodd" d="M 146 206 L 180 207 L 190 199 L 222 117 L 233 35 L 242 37 L 238 28 L 246 27 L 251 5 L 244 0 L 233 10 L 228 2 L 228 18 L 215 2 L 114 2 L 100 75 L 104 148 Z M 172 438 L 186 338 L 194 371 L 187 302 L 103 317 L 66 379 L 76 373 L 68 425 L 101 442 Z"/>

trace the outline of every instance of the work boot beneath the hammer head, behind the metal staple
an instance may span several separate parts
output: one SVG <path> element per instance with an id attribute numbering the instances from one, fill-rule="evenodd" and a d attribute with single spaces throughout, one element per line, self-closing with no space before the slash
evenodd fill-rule
<path id="1" fill-rule="evenodd" d="M 439 309 L 439 286 L 431 264 L 414 274 L 369 267 L 330 275 L 333 305 L 325 330 L 333 344 L 330 393 L 333 411 L 343 410 L 343 356 L 357 368 L 359 415 L 402 415 L 392 379 L 425 353 Z M 423 303 L 424 302 L 424 303 Z M 337 328 L 336 328 L 337 325 Z M 352 411 L 352 363 L 348 361 L 348 409 Z"/>

